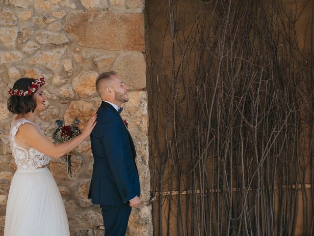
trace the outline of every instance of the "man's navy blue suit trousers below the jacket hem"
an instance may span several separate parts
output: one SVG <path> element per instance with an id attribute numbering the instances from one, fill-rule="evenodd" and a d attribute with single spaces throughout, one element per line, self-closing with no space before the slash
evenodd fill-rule
<path id="1" fill-rule="evenodd" d="M 105 236 L 125 236 L 131 214 L 129 202 L 122 205 L 100 205 L 104 218 Z"/>

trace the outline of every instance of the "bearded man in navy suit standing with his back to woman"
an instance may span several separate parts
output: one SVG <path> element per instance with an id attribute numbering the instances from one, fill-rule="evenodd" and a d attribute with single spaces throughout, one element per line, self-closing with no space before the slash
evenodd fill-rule
<path id="1" fill-rule="evenodd" d="M 141 203 L 135 148 L 120 116 L 120 106 L 129 100 L 128 90 L 114 71 L 96 80 L 102 104 L 90 135 L 94 169 L 88 198 L 102 209 L 105 236 L 125 236 L 131 207 Z"/>

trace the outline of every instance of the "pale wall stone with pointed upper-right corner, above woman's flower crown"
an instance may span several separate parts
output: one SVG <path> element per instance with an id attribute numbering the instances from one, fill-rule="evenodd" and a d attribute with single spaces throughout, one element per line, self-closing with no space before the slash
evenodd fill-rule
<path id="1" fill-rule="evenodd" d="M 60 64 L 65 48 L 52 49 L 50 51 L 37 52 L 30 60 L 31 64 L 39 64 L 48 69 L 55 70 Z"/>

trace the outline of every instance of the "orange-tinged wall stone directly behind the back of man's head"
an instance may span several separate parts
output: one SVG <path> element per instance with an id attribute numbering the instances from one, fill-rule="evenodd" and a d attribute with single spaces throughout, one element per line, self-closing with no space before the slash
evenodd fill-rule
<path id="1" fill-rule="evenodd" d="M 96 93 L 95 82 L 98 73 L 95 71 L 82 71 L 72 80 L 74 91 L 81 98 L 87 98 Z"/>

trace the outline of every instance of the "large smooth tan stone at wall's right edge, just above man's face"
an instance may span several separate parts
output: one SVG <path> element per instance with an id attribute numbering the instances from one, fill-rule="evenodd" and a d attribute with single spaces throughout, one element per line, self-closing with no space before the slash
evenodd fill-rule
<path id="1" fill-rule="evenodd" d="M 130 89 L 146 88 L 146 61 L 142 53 L 133 52 L 117 57 L 113 70 Z"/>

